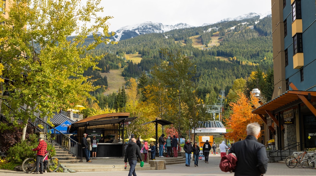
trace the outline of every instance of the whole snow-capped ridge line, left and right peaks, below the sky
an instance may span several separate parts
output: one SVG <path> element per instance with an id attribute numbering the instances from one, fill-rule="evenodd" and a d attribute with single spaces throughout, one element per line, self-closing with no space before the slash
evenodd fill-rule
<path id="1" fill-rule="evenodd" d="M 264 14 L 257 14 L 257 13 L 251 12 L 245 15 L 237 16 L 235 18 L 226 18 L 219 22 L 243 20 L 243 19 L 248 19 L 248 18 L 258 16 L 258 15 L 260 15 L 260 19 L 262 19 L 266 17 L 267 15 L 271 15 L 271 12 L 269 11 Z M 211 25 L 211 24 L 204 23 L 202 26 L 207 26 L 207 25 Z M 151 21 L 147 21 L 144 23 L 121 27 L 116 31 L 115 36 L 112 37 L 111 39 L 115 41 L 119 41 L 119 40 L 125 40 L 128 38 L 133 38 L 142 34 L 162 33 L 162 32 L 167 32 L 173 29 L 182 29 L 182 28 L 189 28 L 189 27 L 195 27 L 195 26 L 191 26 L 186 23 L 178 23 L 176 25 L 163 25 L 162 23 L 153 23 Z"/>

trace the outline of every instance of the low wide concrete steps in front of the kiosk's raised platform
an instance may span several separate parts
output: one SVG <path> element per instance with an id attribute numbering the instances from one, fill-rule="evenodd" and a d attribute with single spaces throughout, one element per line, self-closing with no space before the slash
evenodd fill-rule
<path id="1" fill-rule="evenodd" d="M 124 169 L 124 164 L 112 164 L 112 165 L 99 165 L 99 164 L 86 164 L 82 165 L 82 163 L 78 164 L 69 164 L 65 163 L 65 167 L 72 169 L 76 172 L 91 172 L 91 171 L 129 171 L 130 166 L 127 164 L 126 169 Z M 150 164 L 144 163 L 143 167 L 140 167 L 139 163 L 137 163 L 135 170 L 155 170 L 155 167 L 150 167 Z"/>

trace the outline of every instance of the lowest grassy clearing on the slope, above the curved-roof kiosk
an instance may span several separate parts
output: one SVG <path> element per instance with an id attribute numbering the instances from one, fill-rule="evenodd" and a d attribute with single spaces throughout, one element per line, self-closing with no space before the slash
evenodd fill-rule
<path id="1" fill-rule="evenodd" d="M 122 88 L 122 86 L 125 85 L 125 79 L 122 76 L 122 71 L 123 69 L 119 69 L 110 70 L 110 73 L 100 73 L 102 77 L 107 77 L 108 88 L 105 92 L 103 92 L 104 95 L 112 94 L 113 92 L 118 91 L 119 88 Z"/>

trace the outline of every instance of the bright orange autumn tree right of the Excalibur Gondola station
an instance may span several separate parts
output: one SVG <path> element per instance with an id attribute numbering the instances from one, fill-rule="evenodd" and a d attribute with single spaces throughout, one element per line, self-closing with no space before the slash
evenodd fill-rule
<path id="1" fill-rule="evenodd" d="M 238 93 L 236 102 L 231 102 L 232 114 L 230 117 L 225 119 L 227 133 L 225 138 L 231 141 L 240 141 L 245 139 L 247 136 L 246 127 L 249 123 L 258 122 L 262 123 L 262 120 L 257 114 L 252 114 L 252 105 L 258 105 L 258 98 L 251 95 L 248 99 L 242 92 Z"/>

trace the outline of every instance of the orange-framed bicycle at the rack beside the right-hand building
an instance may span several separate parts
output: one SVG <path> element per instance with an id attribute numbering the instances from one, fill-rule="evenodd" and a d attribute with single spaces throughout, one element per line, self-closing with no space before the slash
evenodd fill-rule
<path id="1" fill-rule="evenodd" d="M 297 164 L 299 163 L 302 167 L 311 167 L 311 168 L 315 168 L 315 164 L 314 161 L 309 160 L 308 158 L 305 157 L 305 155 L 307 154 L 306 150 L 304 150 L 304 152 L 300 155 L 298 155 L 297 157 L 291 155 L 288 156 L 285 159 L 285 164 L 287 167 L 289 168 L 294 168 L 297 166 Z M 307 162 L 308 166 L 303 166 L 302 163 L 303 162 Z M 307 165 L 305 164 L 305 165 Z"/>

